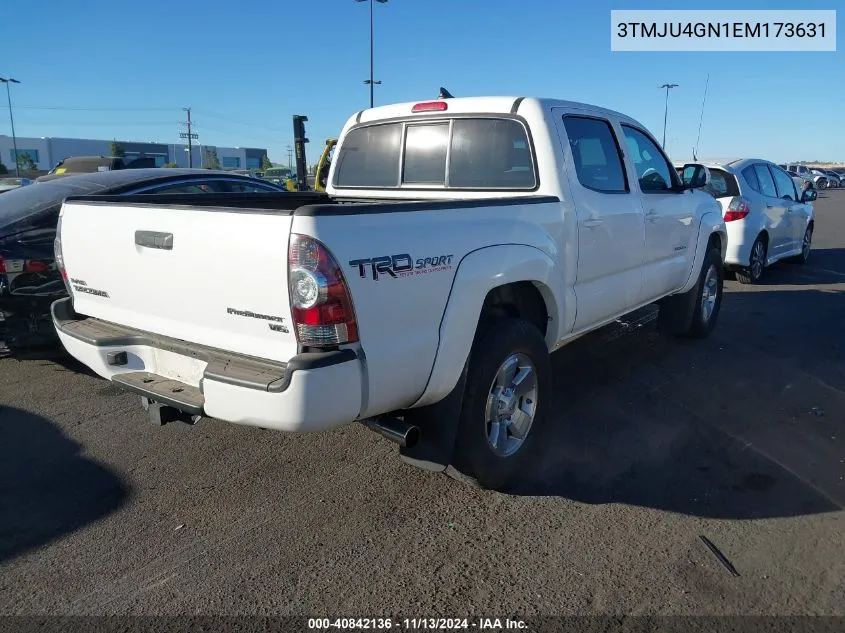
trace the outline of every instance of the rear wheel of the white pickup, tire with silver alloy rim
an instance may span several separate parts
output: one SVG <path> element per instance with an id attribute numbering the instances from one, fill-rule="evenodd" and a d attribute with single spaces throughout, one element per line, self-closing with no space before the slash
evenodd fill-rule
<path id="1" fill-rule="evenodd" d="M 540 331 L 527 321 L 496 319 L 479 332 L 467 370 L 456 457 L 482 488 L 512 489 L 529 475 L 528 469 L 536 463 L 549 426 L 551 371 L 546 342 Z M 522 388 L 517 387 L 514 396 L 498 401 L 494 396 L 498 389 L 505 385 L 513 387 L 520 374 Z M 504 406 L 510 411 L 507 420 L 511 422 L 504 435 L 502 422 L 495 425 L 492 422 L 504 418 L 502 413 L 492 410 L 494 406 Z M 521 442 L 520 433 L 514 432 L 511 426 L 517 411 L 533 412 L 533 418 L 523 418 Z"/>

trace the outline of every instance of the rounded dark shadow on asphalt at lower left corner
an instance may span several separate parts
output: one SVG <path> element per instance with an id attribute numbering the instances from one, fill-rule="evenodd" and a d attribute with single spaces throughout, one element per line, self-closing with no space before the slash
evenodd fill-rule
<path id="1" fill-rule="evenodd" d="M 108 516 L 128 494 L 52 422 L 0 407 L 0 563 Z"/>

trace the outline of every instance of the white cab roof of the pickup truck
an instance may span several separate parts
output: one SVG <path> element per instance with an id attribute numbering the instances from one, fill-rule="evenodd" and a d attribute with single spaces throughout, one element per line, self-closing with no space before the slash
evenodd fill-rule
<path id="1" fill-rule="evenodd" d="M 418 99 L 417 101 L 406 101 L 404 103 L 377 106 L 375 108 L 361 110 L 353 118 L 358 123 L 366 123 L 368 121 L 407 117 L 411 114 L 411 108 L 415 104 L 440 100 L 441 99 Z M 523 106 L 534 105 L 542 110 L 554 107 L 586 109 L 594 113 L 601 113 L 606 116 L 612 116 L 638 123 L 635 119 L 609 108 L 603 108 L 601 106 L 581 103 L 578 101 L 566 101 L 564 99 L 552 99 L 546 97 L 490 96 L 452 97 L 443 100 L 448 103 L 448 112 L 453 114 L 472 114 L 478 112 L 507 114 L 517 112 L 518 109 Z"/>

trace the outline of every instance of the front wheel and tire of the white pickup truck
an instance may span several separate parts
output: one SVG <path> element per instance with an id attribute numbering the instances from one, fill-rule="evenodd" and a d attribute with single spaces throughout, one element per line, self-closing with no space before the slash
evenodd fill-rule
<path id="1" fill-rule="evenodd" d="M 704 255 L 695 286 L 684 294 L 661 301 L 658 329 L 673 336 L 708 337 L 719 320 L 724 282 L 722 253 L 711 247 Z"/>

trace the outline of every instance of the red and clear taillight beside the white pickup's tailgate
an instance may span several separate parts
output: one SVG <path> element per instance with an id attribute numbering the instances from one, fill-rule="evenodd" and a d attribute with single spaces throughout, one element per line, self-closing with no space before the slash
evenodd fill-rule
<path id="1" fill-rule="evenodd" d="M 358 340 L 349 287 L 328 249 L 306 235 L 291 235 L 288 288 L 300 345 L 331 347 Z"/>

